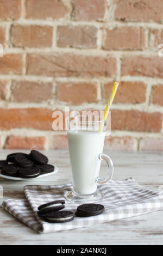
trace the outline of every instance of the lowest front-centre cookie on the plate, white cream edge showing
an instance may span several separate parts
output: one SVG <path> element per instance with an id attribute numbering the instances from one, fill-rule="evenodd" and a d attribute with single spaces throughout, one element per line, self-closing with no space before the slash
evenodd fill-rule
<path id="1" fill-rule="evenodd" d="M 36 166 L 33 167 L 20 167 L 19 176 L 21 178 L 33 179 L 40 175 L 40 169 Z"/>

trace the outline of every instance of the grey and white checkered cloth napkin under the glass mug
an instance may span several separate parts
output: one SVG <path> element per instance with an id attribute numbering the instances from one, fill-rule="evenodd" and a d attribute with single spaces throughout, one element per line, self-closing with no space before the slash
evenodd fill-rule
<path id="1" fill-rule="evenodd" d="M 105 211 L 101 215 L 74 217 L 73 221 L 65 223 L 48 223 L 37 216 L 39 205 L 65 199 L 65 192 L 71 190 L 71 184 L 26 186 L 24 187 L 26 200 L 7 199 L 3 202 L 3 208 L 39 233 L 87 227 L 163 209 L 163 192 L 148 190 L 137 184 L 134 179 L 129 178 L 111 180 L 108 184 L 98 186 L 98 190 L 104 194 L 101 204 L 105 206 Z M 77 206 L 77 204 L 66 201 L 64 210 L 76 212 Z"/>

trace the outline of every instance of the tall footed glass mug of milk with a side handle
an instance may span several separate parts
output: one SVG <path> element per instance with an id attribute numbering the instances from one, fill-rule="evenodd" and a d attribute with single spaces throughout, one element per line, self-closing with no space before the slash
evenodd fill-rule
<path id="1" fill-rule="evenodd" d="M 110 157 L 103 154 L 106 121 L 93 115 L 76 115 L 66 118 L 66 129 L 73 191 L 67 192 L 65 197 L 78 204 L 101 201 L 103 194 L 97 186 L 108 182 L 114 172 Z M 103 179 L 99 178 L 101 160 L 108 166 Z"/>

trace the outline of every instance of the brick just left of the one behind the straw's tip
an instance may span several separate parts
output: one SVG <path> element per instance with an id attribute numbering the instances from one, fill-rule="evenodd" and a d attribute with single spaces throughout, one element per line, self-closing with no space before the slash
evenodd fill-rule
<path id="1" fill-rule="evenodd" d="M 57 98 L 72 105 L 97 101 L 97 84 L 93 83 L 60 83 Z"/>

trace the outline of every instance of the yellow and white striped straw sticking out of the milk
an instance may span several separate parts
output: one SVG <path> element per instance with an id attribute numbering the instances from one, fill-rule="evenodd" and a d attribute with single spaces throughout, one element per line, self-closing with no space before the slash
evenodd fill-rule
<path id="1" fill-rule="evenodd" d="M 106 108 L 105 108 L 105 111 L 104 111 L 104 114 L 103 114 L 102 122 L 101 122 L 101 124 L 99 126 L 99 131 L 103 130 L 104 121 L 108 117 L 108 114 L 109 114 L 109 111 L 110 111 L 110 108 L 111 108 L 111 104 L 112 104 L 112 101 L 114 100 L 114 97 L 115 97 L 115 94 L 116 94 L 116 91 L 117 91 L 117 88 L 118 88 L 119 84 L 120 83 L 115 82 L 114 86 L 112 87 L 111 94 L 110 94 L 108 103 L 106 104 Z"/>

